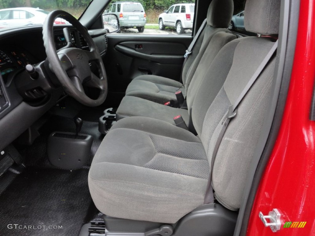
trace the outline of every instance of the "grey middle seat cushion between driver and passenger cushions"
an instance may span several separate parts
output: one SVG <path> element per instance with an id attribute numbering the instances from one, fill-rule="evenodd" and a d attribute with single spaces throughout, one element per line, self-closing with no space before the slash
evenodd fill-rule
<path id="1" fill-rule="evenodd" d="M 165 106 L 134 96 L 125 96 L 116 111 L 117 120 L 128 116 L 144 116 L 166 121 L 170 124 L 175 124 L 173 118 L 177 115 L 181 115 L 186 124 L 189 124 L 187 110 Z"/>

